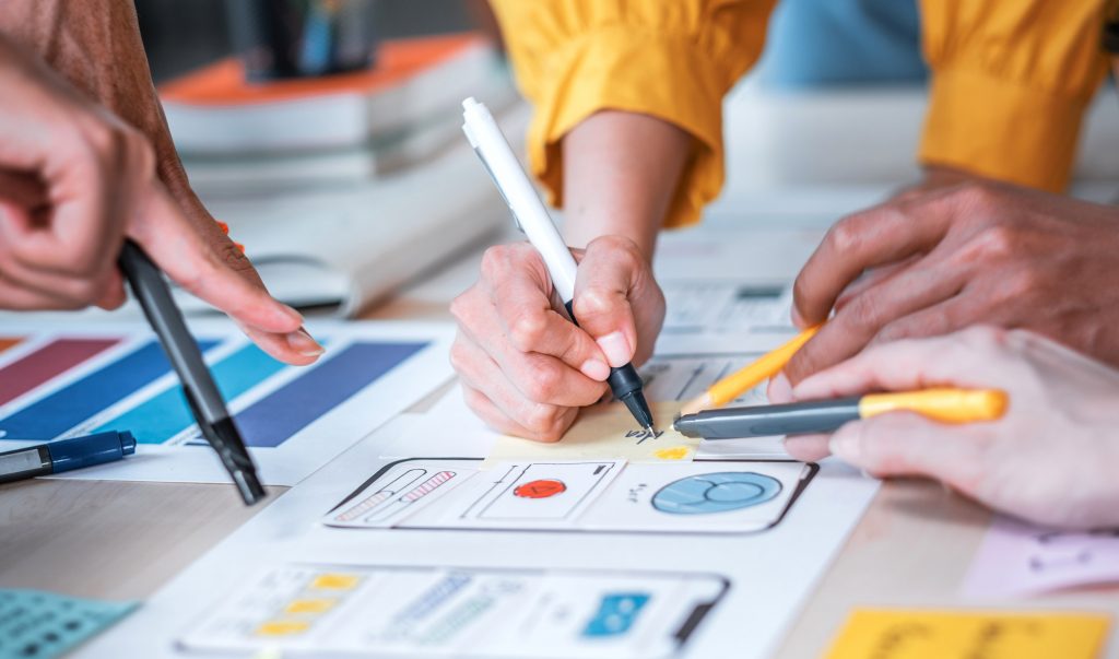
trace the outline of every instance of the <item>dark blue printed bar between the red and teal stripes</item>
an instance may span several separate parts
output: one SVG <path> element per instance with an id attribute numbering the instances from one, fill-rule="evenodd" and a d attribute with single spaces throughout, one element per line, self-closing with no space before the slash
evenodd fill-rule
<path id="1" fill-rule="evenodd" d="M 198 341 L 203 351 L 216 345 Z M 163 348 L 149 341 L 0 421 L 0 431 L 12 439 L 53 440 L 170 370 Z"/>

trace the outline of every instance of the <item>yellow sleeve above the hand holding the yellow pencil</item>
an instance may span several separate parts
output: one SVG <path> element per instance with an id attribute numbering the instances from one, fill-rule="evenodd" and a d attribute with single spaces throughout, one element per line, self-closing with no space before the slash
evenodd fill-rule
<path id="1" fill-rule="evenodd" d="M 921 0 L 932 69 L 919 158 L 1052 191 L 1107 70 L 1102 0 Z"/>

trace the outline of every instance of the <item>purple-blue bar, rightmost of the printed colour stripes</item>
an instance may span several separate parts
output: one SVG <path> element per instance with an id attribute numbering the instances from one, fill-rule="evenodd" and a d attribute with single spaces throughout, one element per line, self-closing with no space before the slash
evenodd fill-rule
<path id="1" fill-rule="evenodd" d="M 245 444 L 278 446 L 427 343 L 359 342 L 256 402 L 235 420 Z"/>

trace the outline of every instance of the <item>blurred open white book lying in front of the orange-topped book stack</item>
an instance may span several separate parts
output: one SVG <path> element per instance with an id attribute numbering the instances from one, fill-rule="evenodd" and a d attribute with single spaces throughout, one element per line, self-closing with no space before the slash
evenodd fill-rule
<path id="1" fill-rule="evenodd" d="M 518 152 L 528 117 L 526 105 L 498 116 Z M 207 201 L 273 295 L 344 317 L 511 222 L 466 138 L 423 167 L 346 189 Z"/>

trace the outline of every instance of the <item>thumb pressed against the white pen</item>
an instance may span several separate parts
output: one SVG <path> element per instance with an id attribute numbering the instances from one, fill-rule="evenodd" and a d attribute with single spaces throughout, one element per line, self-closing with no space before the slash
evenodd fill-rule
<path id="1" fill-rule="evenodd" d="M 637 351 L 634 293 L 646 264 L 637 245 L 620 236 L 605 236 L 586 246 L 575 277 L 572 309 L 575 320 L 598 342 L 611 367 L 629 364 Z"/>

